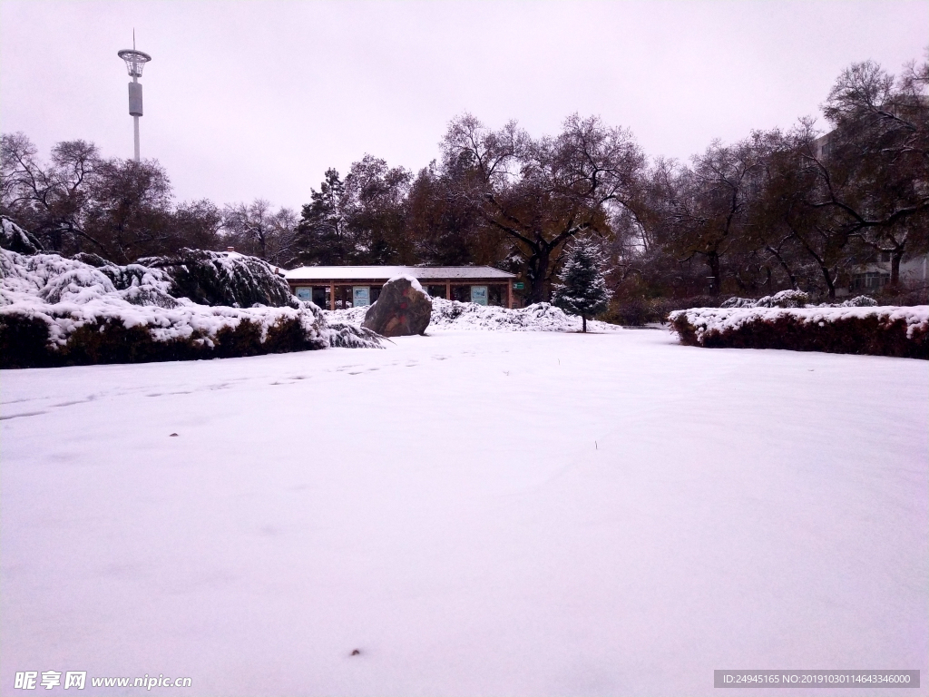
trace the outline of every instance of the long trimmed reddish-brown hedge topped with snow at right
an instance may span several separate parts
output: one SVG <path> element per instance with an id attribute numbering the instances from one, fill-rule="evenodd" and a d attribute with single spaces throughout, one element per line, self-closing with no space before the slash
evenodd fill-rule
<path id="1" fill-rule="evenodd" d="M 929 306 L 695 308 L 669 316 L 681 343 L 929 359 Z"/>

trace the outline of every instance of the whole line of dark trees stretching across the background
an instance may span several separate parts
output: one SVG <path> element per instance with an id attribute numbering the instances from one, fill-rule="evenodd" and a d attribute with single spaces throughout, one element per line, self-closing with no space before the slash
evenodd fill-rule
<path id="1" fill-rule="evenodd" d="M 929 251 L 929 63 L 899 76 L 865 61 L 789 130 L 714 141 L 687 163 L 648 158 L 626 128 L 575 114 L 556 136 L 465 113 L 415 175 L 365 155 L 326 171 L 302 210 L 264 200 L 177 203 L 157 161 L 104 158 L 83 140 L 42 161 L 5 134 L 0 213 L 48 251 L 119 263 L 183 246 L 292 268 L 487 264 L 516 272 L 526 300 L 551 297 L 571 240 L 594 242 L 624 297 L 835 296 L 875 256 Z"/>

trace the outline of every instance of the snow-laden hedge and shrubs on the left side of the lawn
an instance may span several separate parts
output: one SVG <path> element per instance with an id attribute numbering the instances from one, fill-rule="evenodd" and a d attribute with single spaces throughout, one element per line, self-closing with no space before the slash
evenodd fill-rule
<path id="1" fill-rule="evenodd" d="M 0 367 L 379 346 L 373 332 L 330 325 L 319 308 L 295 298 L 294 307 L 210 307 L 171 295 L 176 288 L 167 272 L 141 264 L 96 266 L 0 249 Z"/>

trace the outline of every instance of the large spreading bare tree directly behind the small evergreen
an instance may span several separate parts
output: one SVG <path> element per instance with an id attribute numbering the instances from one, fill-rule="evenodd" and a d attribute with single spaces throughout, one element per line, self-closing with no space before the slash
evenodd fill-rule
<path id="1" fill-rule="evenodd" d="M 515 122 L 491 131 L 470 114 L 443 141 L 444 166 L 464 168 L 459 195 L 512 243 L 530 302 L 546 300 L 562 245 L 582 230 L 608 235 L 612 208 L 631 198 L 644 156 L 628 130 L 574 114 L 556 138 Z"/>

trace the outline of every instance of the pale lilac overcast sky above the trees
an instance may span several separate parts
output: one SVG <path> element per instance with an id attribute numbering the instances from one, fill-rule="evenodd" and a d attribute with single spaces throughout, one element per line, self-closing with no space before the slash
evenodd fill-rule
<path id="1" fill-rule="evenodd" d="M 142 157 L 177 198 L 298 209 L 365 153 L 425 166 L 465 111 L 536 136 L 597 114 L 681 159 L 788 127 L 849 63 L 923 59 L 929 2 L 0 0 L 3 132 L 131 157 L 133 28 L 152 56 Z"/>

